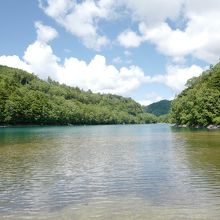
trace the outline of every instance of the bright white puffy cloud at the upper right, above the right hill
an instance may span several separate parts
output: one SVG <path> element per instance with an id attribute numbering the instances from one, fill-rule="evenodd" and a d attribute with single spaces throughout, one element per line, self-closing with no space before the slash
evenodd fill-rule
<path id="1" fill-rule="evenodd" d="M 184 31 L 173 30 L 167 23 L 153 28 L 140 25 L 143 38 L 173 59 L 192 55 L 208 63 L 216 63 L 220 54 L 220 20 L 193 15 Z"/>

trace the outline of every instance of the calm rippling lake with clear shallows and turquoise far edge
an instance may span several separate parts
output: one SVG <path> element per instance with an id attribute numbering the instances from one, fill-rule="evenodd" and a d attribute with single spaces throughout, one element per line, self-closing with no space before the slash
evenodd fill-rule
<path id="1" fill-rule="evenodd" d="M 220 219 L 220 131 L 0 128 L 0 219 Z"/>

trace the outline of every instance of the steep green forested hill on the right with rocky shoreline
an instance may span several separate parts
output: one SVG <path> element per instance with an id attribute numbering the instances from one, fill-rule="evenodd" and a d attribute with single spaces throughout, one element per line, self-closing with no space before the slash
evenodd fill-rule
<path id="1" fill-rule="evenodd" d="M 190 79 L 187 88 L 172 102 L 172 117 L 178 125 L 220 124 L 220 63 Z"/>

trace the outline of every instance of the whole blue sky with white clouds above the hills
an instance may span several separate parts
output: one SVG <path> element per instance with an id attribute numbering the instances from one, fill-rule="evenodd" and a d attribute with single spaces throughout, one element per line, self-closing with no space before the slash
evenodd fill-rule
<path id="1" fill-rule="evenodd" d="M 0 64 L 148 105 L 220 57 L 219 0 L 3 0 Z"/>

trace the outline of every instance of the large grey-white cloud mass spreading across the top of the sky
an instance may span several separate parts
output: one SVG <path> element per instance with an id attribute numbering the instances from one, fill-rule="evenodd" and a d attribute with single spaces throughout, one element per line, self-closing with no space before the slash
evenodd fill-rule
<path id="1" fill-rule="evenodd" d="M 100 21 L 127 16 L 139 30 L 125 28 L 119 33 L 117 40 L 125 48 L 148 42 L 176 63 L 188 55 L 212 64 L 219 59 L 219 0 L 38 1 L 46 15 L 88 48 L 100 50 L 110 42 L 100 29 Z"/>

